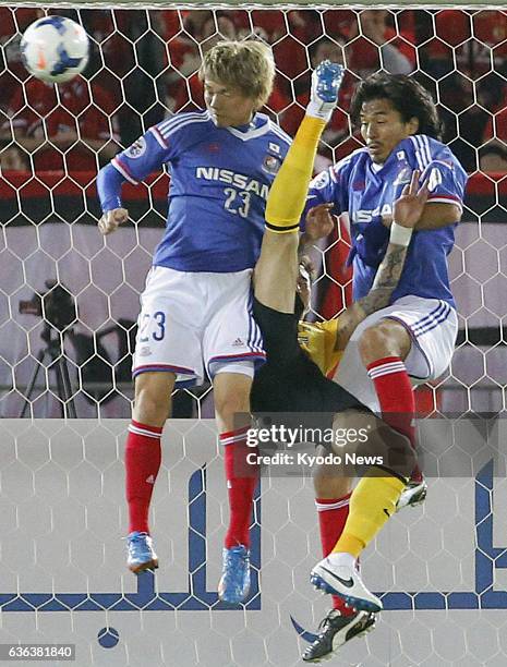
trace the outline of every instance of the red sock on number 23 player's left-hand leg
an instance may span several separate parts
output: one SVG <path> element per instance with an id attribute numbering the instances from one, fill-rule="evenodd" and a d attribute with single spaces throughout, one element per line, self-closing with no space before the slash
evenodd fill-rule
<path id="1" fill-rule="evenodd" d="M 153 488 L 160 469 L 162 429 L 132 420 L 125 446 L 129 533 L 149 533 L 148 512 Z"/>

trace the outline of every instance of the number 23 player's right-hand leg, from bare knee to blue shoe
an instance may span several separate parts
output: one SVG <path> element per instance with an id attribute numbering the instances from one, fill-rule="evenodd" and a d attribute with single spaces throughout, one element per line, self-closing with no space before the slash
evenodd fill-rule
<path id="1" fill-rule="evenodd" d="M 246 462 L 246 456 L 255 451 L 246 445 L 251 387 L 252 378 L 241 373 L 222 372 L 214 378 L 215 413 L 224 445 L 230 512 L 218 596 L 228 604 L 243 602 L 250 591 L 250 523 L 258 481 L 257 466 Z"/>

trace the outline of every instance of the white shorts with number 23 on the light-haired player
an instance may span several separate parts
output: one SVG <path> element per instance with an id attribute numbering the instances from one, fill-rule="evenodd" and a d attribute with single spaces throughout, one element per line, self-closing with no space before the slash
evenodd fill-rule
<path id="1" fill-rule="evenodd" d="M 251 278 L 251 269 L 190 274 L 154 266 L 141 294 L 132 375 L 171 372 L 188 387 L 234 364 L 234 372 L 253 377 L 266 353 L 252 315 Z"/>

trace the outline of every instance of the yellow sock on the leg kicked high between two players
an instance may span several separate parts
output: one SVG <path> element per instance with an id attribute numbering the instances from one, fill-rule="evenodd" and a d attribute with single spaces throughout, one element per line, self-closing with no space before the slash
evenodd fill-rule
<path id="1" fill-rule="evenodd" d="M 276 233 L 295 232 L 306 202 L 318 141 L 326 122 L 305 116 L 269 190 L 266 227 Z"/>

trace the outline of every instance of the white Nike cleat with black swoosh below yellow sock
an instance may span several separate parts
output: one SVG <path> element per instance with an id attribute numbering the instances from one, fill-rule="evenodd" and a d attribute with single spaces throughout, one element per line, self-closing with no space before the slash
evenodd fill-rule
<path id="1" fill-rule="evenodd" d="M 338 595 L 354 609 L 382 611 L 384 605 L 363 584 L 355 567 L 342 563 L 343 559 L 340 554 L 330 554 L 313 568 L 310 581 L 324 593 Z"/>

